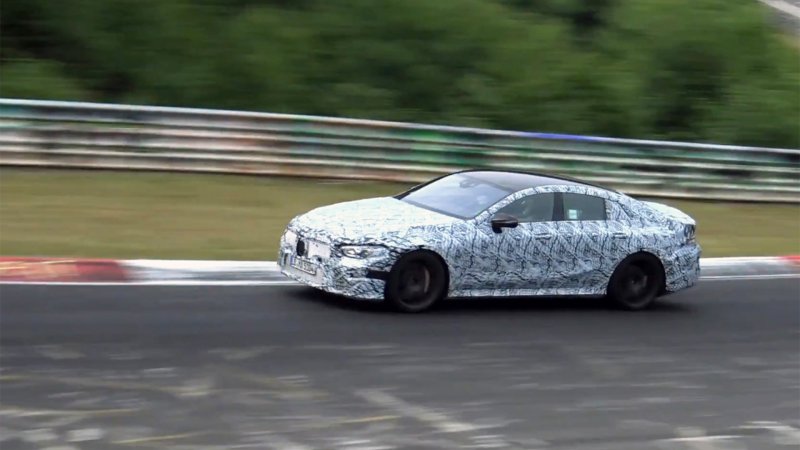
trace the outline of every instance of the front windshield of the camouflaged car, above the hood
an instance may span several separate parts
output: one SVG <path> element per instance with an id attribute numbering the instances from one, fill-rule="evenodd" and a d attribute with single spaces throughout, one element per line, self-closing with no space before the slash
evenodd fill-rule
<path id="1" fill-rule="evenodd" d="M 512 192 L 468 173 L 457 173 L 409 192 L 400 200 L 448 216 L 470 219 Z"/>

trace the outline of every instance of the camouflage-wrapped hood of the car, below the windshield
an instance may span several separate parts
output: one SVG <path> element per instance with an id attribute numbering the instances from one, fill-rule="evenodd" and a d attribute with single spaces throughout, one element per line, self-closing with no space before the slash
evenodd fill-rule
<path id="1" fill-rule="evenodd" d="M 292 219 L 289 228 L 323 241 L 368 243 L 458 220 L 393 197 L 377 197 L 313 209 Z"/>

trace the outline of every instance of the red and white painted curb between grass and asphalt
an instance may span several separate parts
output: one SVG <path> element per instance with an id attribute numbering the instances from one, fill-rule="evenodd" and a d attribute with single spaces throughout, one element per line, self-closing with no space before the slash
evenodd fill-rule
<path id="1" fill-rule="evenodd" d="M 702 258 L 702 280 L 800 278 L 800 255 Z M 274 261 L 0 257 L 0 284 L 293 285 Z"/>

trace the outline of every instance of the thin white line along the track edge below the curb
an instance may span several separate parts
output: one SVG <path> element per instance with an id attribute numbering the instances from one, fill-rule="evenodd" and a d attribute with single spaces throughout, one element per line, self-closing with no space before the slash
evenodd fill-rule
<path id="1" fill-rule="evenodd" d="M 800 279 L 800 273 L 713 275 L 700 281 L 766 281 Z M 158 281 L 0 281 L 0 286 L 302 286 L 291 280 L 158 280 Z"/>

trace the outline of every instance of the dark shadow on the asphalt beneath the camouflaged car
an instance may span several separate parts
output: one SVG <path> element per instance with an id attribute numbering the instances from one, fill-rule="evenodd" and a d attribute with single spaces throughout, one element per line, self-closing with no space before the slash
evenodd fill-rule
<path id="1" fill-rule="evenodd" d="M 303 288 L 292 294 L 297 300 L 316 303 L 321 306 L 375 314 L 402 314 L 392 310 L 382 301 L 354 300 L 340 295 L 329 294 L 314 288 Z M 480 297 L 480 298 L 452 298 L 437 304 L 431 310 L 423 313 L 435 314 L 470 314 L 470 313 L 506 313 L 506 312 L 607 312 L 614 314 L 666 314 L 688 313 L 693 306 L 685 302 L 672 301 L 672 296 L 658 299 L 646 311 L 625 311 L 604 298 L 596 297 Z"/>

